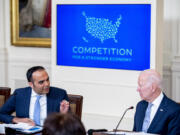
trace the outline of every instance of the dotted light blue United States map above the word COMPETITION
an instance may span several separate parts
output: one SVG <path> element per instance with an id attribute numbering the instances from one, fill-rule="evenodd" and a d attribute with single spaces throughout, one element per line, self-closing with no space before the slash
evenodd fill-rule
<path id="1" fill-rule="evenodd" d="M 112 38 L 115 43 L 118 43 L 116 34 L 121 24 L 121 15 L 114 24 L 109 19 L 88 17 L 84 11 L 82 15 L 86 18 L 86 31 L 94 38 L 100 39 L 101 43 L 104 43 L 106 39 Z M 84 37 L 83 40 L 87 41 Z"/>

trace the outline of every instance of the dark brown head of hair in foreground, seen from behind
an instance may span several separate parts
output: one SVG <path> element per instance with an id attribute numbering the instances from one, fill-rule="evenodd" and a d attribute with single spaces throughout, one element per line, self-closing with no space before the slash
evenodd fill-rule
<path id="1" fill-rule="evenodd" d="M 42 135 L 86 135 L 86 130 L 78 116 L 52 113 L 44 122 Z"/>

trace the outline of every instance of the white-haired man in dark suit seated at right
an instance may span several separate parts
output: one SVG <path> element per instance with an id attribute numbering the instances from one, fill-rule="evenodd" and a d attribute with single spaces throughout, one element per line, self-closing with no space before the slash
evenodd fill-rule
<path id="1" fill-rule="evenodd" d="M 138 78 L 142 101 L 137 104 L 134 131 L 160 135 L 180 135 L 180 105 L 162 92 L 162 79 L 155 70 L 145 70 Z"/>

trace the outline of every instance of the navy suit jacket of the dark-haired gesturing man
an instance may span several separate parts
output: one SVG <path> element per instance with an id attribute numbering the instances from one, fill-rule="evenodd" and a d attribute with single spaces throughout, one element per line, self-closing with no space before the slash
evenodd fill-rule
<path id="1" fill-rule="evenodd" d="M 31 91 L 31 87 L 16 89 L 13 95 L 0 108 L 0 121 L 11 123 L 14 118 L 14 116 L 11 116 L 13 112 L 16 112 L 17 117 L 29 118 Z M 47 114 L 59 112 L 60 102 L 64 99 L 69 101 L 65 90 L 50 87 L 47 94 Z"/>

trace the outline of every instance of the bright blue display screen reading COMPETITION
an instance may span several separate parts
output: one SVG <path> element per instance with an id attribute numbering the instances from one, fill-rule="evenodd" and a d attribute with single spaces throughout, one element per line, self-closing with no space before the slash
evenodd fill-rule
<path id="1" fill-rule="evenodd" d="M 58 4 L 57 65 L 150 68 L 150 4 Z"/>

